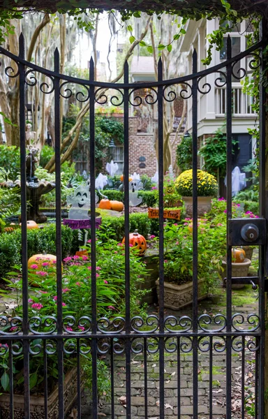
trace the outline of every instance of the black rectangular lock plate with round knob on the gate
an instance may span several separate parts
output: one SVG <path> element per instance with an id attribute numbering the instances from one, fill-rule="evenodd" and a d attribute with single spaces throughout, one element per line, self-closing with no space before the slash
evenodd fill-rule
<path id="1" fill-rule="evenodd" d="M 260 246 L 267 244 L 266 219 L 229 219 L 229 246 Z"/>

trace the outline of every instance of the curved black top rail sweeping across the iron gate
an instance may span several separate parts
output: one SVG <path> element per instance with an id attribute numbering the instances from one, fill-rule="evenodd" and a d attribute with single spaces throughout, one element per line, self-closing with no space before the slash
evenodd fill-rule
<path id="1" fill-rule="evenodd" d="M 179 78 L 174 78 L 170 80 L 161 80 L 156 82 L 139 82 L 139 89 L 146 89 L 150 87 L 158 87 L 158 86 L 172 86 L 172 84 L 180 84 L 183 82 L 191 81 L 195 78 L 203 78 L 206 75 L 209 75 L 211 72 L 214 73 L 218 70 L 221 70 L 221 68 L 225 68 L 228 64 L 234 64 L 237 61 L 240 61 L 242 58 L 251 55 L 252 52 L 255 50 L 258 50 L 258 48 L 265 47 L 265 41 L 263 39 L 259 41 L 258 43 L 255 43 L 251 47 L 249 47 L 244 52 L 241 52 L 240 54 L 236 55 L 235 57 L 232 57 L 229 60 L 223 61 L 221 64 L 217 64 L 216 66 L 206 68 L 205 70 L 199 71 L 195 74 L 189 74 L 184 75 Z M 80 79 L 80 78 L 74 78 L 70 75 L 65 75 L 61 73 L 54 73 L 54 71 L 47 70 L 47 68 L 43 68 L 40 66 L 36 66 L 36 64 L 31 63 L 29 61 L 26 61 L 25 59 L 21 59 L 20 57 L 17 57 L 17 55 L 12 54 L 11 52 L 5 50 L 3 47 L 0 47 L 0 53 L 6 55 L 6 57 L 9 57 L 10 59 L 13 59 L 15 62 L 20 62 L 21 64 L 24 64 L 24 66 L 27 66 L 29 68 L 32 68 L 34 71 L 38 71 L 38 73 L 43 73 L 47 75 L 50 78 L 59 78 L 60 80 L 66 80 L 68 82 L 73 82 L 75 84 L 82 84 L 84 86 L 94 86 L 94 87 L 103 87 L 106 89 L 112 88 L 112 89 L 135 89 L 137 88 L 136 83 L 109 83 L 109 82 L 98 82 L 98 81 L 91 81 L 89 83 L 88 80 Z"/>

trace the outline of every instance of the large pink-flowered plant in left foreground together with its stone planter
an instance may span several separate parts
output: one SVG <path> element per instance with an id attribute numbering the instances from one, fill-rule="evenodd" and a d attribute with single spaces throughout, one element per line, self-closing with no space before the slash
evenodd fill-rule
<path id="1" fill-rule="evenodd" d="M 124 313 L 125 296 L 125 261 L 124 245 L 120 246 L 114 240 L 102 244 L 97 242 L 96 260 L 96 301 L 98 327 L 105 328 L 106 323 L 101 322 L 100 318 L 113 319 Z M 90 240 L 87 246 L 90 255 Z M 137 301 L 141 300 L 146 291 L 139 288 L 139 284 L 144 281 L 147 273 L 144 263 L 137 255 L 135 249 L 130 249 L 131 260 L 131 315 L 139 314 L 141 308 Z M 57 274 L 55 264 L 51 260 L 38 261 L 41 263 L 29 264 L 29 328 L 31 332 L 36 332 L 36 339 L 31 340 L 30 364 L 29 364 L 29 383 L 31 390 L 31 416 L 45 418 L 44 412 L 44 344 L 47 350 L 47 376 L 49 380 L 47 417 L 56 419 L 58 417 L 58 390 L 57 390 L 57 344 L 50 339 L 50 334 L 57 328 Z M 20 266 L 15 266 L 20 270 Z M 15 272 L 12 273 L 14 277 Z M 13 321 L 11 317 L 6 325 L 1 326 L 1 330 L 13 335 L 13 343 L 20 342 L 20 332 L 22 332 L 22 279 L 20 277 L 14 283 L 14 279 L 6 280 L 10 286 L 15 287 L 16 307 L 13 310 Z M 34 286 L 31 286 L 34 284 Z M 38 288 L 36 288 L 38 284 Z M 63 309 L 63 333 L 64 338 L 64 402 L 66 413 L 70 405 L 77 397 L 77 358 L 73 350 L 76 347 L 76 339 L 72 334 L 87 334 L 91 330 L 91 260 L 90 256 L 68 256 L 64 259 L 62 273 L 62 309 Z M 38 321 L 36 320 L 38 319 Z M 49 319 L 49 320 L 48 320 Z M 39 339 L 38 333 L 46 333 L 47 339 Z M 83 339 L 83 352 L 81 355 L 81 377 L 82 387 L 87 385 L 91 390 L 91 353 L 89 339 Z M 10 342 L 10 341 L 9 341 Z M 14 390 L 14 409 L 17 417 L 24 417 L 24 376 L 23 376 L 23 353 L 19 346 L 13 351 L 13 390 Z M 88 346 L 88 347 L 87 347 Z M 9 354 L 8 342 L 0 346 L 0 353 L 3 361 L 0 366 L 0 408 L 3 417 L 10 416 L 10 405 L 8 390 L 9 382 Z M 98 360 L 98 383 L 106 383 L 106 388 L 98 388 L 98 395 L 108 395 L 109 376 L 106 366 Z M 104 385 L 103 384 L 103 385 Z M 8 402 L 7 402 L 8 401 Z M 66 414 L 65 413 L 65 414 Z"/>

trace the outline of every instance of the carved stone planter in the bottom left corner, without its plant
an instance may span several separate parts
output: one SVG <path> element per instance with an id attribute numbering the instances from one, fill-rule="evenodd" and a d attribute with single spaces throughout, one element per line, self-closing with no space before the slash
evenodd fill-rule
<path id="1" fill-rule="evenodd" d="M 64 412 L 67 414 L 77 398 L 77 369 L 71 369 L 64 379 Z M 31 419 L 45 419 L 45 397 L 31 396 L 30 399 Z M 47 398 L 47 419 L 59 418 L 58 387 Z M 1 419 L 10 418 L 9 395 L 0 396 Z M 64 415 L 64 416 L 65 416 Z M 24 419 L 24 396 L 14 395 L 14 419 Z"/>

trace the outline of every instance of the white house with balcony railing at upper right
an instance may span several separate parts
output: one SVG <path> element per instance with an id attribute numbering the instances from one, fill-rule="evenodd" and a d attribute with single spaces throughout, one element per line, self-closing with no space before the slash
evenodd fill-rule
<path id="1" fill-rule="evenodd" d="M 192 57 L 193 50 L 195 49 L 198 54 L 198 71 L 206 68 L 202 64 L 202 59 L 206 57 L 207 47 L 209 45 L 207 41 L 207 35 L 219 28 L 219 20 L 207 20 L 201 19 L 198 22 L 189 20 L 186 23 L 185 30 L 186 34 L 181 36 L 179 40 L 179 50 L 187 54 L 187 60 L 185 64 L 185 73 L 192 73 Z M 251 25 L 248 21 L 244 20 L 230 32 L 232 39 L 232 56 L 239 54 L 246 50 L 246 34 L 251 31 Z M 216 51 L 214 48 L 212 52 L 211 64 L 209 67 L 215 66 L 216 64 L 225 61 L 226 59 L 226 41 L 225 36 L 224 46 L 221 51 Z M 238 71 L 239 68 L 246 68 L 247 75 L 250 75 L 251 69 L 248 66 L 250 59 L 241 59 L 239 65 L 234 68 Z M 224 71 L 224 70 L 223 70 Z M 241 75 L 241 73 L 240 73 Z M 226 114 L 226 87 L 217 87 L 215 80 L 220 77 L 219 73 L 211 73 L 207 75 L 207 78 L 203 78 L 200 82 L 200 87 L 204 83 L 209 83 L 211 90 L 207 94 L 198 93 L 198 138 L 202 144 L 207 136 L 215 133 L 217 128 L 221 128 L 225 124 Z M 217 84 L 223 84 L 218 82 Z M 206 87 L 204 87 L 206 89 Z M 252 109 L 252 98 L 245 94 L 242 90 L 242 84 L 240 80 L 235 78 L 232 79 L 232 97 L 233 97 L 233 114 L 232 114 L 232 133 L 233 137 L 239 141 L 239 152 L 235 158 L 234 164 L 243 167 L 249 159 L 252 157 L 253 141 L 251 141 L 251 135 L 248 134 L 248 128 L 254 128 L 255 124 L 258 123 L 257 115 Z M 188 117 L 187 117 L 187 130 L 191 132 L 192 128 L 192 104 L 191 98 L 188 99 Z"/>

